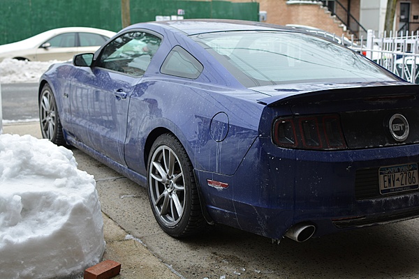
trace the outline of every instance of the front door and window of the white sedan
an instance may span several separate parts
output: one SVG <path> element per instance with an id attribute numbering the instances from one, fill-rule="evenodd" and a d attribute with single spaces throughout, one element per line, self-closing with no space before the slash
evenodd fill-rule
<path id="1" fill-rule="evenodd" d="M 36 50 L 36 61 L 66 61 L 77 52 L 77 33 L 68 32 L 46 40 Z"/>

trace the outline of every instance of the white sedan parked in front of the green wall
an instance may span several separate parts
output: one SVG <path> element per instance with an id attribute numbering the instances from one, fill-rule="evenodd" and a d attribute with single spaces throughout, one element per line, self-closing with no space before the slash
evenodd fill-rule
<path id="1" fill-rule="evenodd" d="M 66 61 L 75 54 L 95 52 L 114 35 L 112 31 L 89 27 L 52 29 L 16 43 L 0 45 L 0 61 L 6 58 Z"/>

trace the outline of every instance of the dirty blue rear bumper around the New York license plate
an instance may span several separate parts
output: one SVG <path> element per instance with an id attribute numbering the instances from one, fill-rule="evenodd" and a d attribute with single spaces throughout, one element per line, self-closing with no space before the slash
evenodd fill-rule
<path id="1" fill-rule="evenodd" d="M 297 223 L 311 223 L 320 236 L 419 217 L 418 190 L 362 199 L 355 195 L 358 169 L 405 163 L 419 163 L 419 146 L 301 151 L 279 149 L 260 138 L 233 176 L 200 173 L 200 183 L 216 222 L 272 239 Z M 228 188 L 205 185 L 209 176 Z"/>

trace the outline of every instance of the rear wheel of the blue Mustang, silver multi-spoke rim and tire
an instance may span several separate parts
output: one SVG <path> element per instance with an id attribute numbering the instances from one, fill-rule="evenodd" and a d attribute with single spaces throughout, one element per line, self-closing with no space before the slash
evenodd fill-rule
<path id="1" fill-rule="evenodd" d="M 198 234 L 205 227 L 193 166 L 182 144 L 164 134 L 152 145 L 147 185 L 154 217 L 173 237 Z"/>

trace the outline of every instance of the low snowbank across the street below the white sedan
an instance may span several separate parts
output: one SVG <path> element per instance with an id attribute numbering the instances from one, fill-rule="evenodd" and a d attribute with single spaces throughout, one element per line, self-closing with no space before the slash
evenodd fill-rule
<path id="1" fill-rule="evenodd" d="M 0 62 L 0 82 L 39 82 L 39 78 L 45 73 L 51 64 L 61 61 L 19 61 L 16 59 L 4 59 Z"/>

